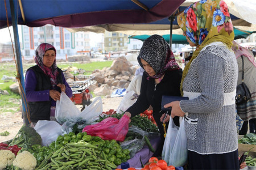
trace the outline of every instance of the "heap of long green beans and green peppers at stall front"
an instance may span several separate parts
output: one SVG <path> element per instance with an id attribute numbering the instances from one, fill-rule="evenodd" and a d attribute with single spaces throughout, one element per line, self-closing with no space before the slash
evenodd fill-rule
<path id="1" fill-rule="evenodd" d="M 122 150 L 115 140 L 92 137 L 86 132 L 59 136 L 49 146 L 32 146 L 36 169 L 114 169 L 130 159 L 130 151 Z"/>

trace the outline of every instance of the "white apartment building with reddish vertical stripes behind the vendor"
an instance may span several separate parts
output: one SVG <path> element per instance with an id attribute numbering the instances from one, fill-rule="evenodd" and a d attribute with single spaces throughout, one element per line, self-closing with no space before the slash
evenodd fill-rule
<path id="1" fill-rule="evenodd" d="M 86 53 L 90 51 L 89 32 L 69 32 L 62 27 L 45 25 L 30 28 L 22 25 L 22 42 L 20 48 L 25 59 L 35 57 L 35 50 L 43 42 L 52 44 L 56 48 L 57 59 Z"/>

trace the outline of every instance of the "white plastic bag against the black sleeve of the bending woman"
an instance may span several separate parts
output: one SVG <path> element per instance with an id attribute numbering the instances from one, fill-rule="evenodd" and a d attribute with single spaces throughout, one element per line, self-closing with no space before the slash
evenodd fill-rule
<path id="1" fill-rule="evenodd" d="M 127 94 L 123 96 L 123 99 L 117 108 L 117 113 L 125 112 L 128 108 L 130 108 L 131 105 L 135 103 L 135 101 L 136 97 L 134 96 L 134 91 L 127 92 Z"/>

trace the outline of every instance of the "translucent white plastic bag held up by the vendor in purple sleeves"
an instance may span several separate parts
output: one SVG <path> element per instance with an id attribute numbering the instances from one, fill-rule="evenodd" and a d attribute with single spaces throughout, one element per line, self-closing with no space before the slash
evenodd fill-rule
<path id="1" fill-rule="evenodd" d="M 76 122 L 80 111 L 69 97 L 61 92 L 60 100 L 56 101 L 55 118 L 60 124 L 64 122 Z"/>

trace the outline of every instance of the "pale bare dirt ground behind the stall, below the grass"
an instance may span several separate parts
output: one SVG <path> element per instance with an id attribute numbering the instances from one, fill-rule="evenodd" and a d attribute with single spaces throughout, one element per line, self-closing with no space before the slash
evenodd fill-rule
<path id="1" fill-rule="evenodd" d="M 120 101 L 123 97 L 110 97 L 110 98 L 102 98 L 102 111 L 106 112 L 109 109 L 116 110 L 120 104 Z M 81 108 L 81 105 L 76 105 L 78 108 Z M 9 131 L 8 136 L 0 136 L 0 142 L 9 141 L 13 139 L 15 135 L 18 133 L 19 129 L 23 125 L 22 120 L 22 112 L 11 113 L 4 112 L 0 113 L 0 133 L 4 131 Z"/>

